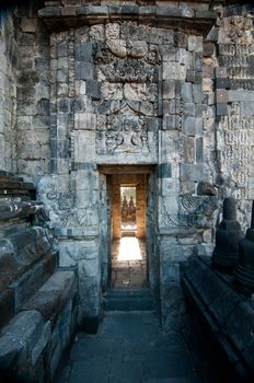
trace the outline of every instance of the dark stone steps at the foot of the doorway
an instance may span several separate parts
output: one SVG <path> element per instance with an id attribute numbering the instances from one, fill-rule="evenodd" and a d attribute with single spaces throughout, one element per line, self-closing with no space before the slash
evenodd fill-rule
<path id="1" fill-rule="evenodd" d="M 104 295 L 105 311 L 154 311 L 151 289 L 108 289 Z"/>

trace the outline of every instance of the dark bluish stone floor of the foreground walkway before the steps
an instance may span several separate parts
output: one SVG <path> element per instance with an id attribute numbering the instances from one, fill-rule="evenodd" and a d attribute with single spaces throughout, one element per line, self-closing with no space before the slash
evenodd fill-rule
<path id="1" fill-rule="evenodd" d="M 77 335 L 69 359 L 55 380 L 55 383 L 200 382 L 184 338 L 177 333 L 162 334 L 152 312 L 106 313 L 96 335 Z"/>

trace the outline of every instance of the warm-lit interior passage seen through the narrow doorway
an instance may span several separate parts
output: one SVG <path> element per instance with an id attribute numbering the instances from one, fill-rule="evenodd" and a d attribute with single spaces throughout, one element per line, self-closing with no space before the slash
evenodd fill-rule
<path id="1" fill-rule="evenodd" d="M 148 287 L 147 174 L 111 176 L 112 288 Z"/>

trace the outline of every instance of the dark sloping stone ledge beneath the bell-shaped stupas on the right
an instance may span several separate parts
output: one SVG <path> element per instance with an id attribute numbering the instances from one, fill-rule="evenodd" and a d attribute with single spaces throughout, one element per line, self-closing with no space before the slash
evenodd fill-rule
<path id="1" fill-rule="evenodd" d="M 205 257 L 193 257 L 184 265 L 181 282 L 194 315 L 203 318 L 240 379 L 253 378 L 252 300 L 236 293 L 232 278 L 215 271 Z"/>

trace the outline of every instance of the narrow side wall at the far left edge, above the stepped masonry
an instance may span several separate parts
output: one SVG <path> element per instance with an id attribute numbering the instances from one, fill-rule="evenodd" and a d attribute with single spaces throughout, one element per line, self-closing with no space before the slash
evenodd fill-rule
<path id="1" fill-rule="evenodd" d="M 16 171 L 18 44 L 12 13 L 0 14 L 0 169 Z"/>

